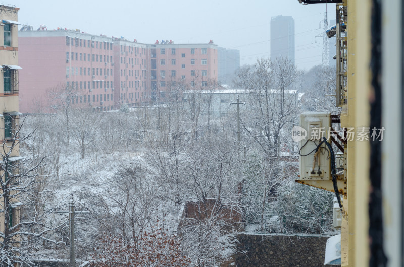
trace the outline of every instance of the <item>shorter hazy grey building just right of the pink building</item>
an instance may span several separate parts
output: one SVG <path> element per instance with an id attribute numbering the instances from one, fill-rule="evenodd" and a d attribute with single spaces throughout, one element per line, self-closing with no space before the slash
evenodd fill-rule
<path id="1" fill-rule="evenodd" d="M 218 48 L 218 81 L 231 84 L 235 72 L 240 68 L 240 50 Z"/>

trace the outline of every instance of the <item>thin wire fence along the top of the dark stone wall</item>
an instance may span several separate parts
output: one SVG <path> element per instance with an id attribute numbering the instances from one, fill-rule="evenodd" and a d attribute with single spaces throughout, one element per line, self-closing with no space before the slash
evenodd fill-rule
<path id="1" fill-rule="evenodd" d="M 324 213 L 314 216 L 283 213 L 247 213 L 246 215 L 245 232 L 247 233 L 328 236 L 336 232 L 333 219 Z"/>

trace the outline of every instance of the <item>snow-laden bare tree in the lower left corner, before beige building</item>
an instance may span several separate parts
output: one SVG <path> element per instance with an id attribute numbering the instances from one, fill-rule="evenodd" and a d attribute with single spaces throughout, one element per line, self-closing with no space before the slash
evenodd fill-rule
<path id="1" fill-rule="evenodd" d="M 65 245 L 52 237 L 55 230 L 63 227 L 65 223 L 55 227 L 45 224 L 48 214 L 39 209 L 37 198 L 43 191 L 44 179 L 38 175 L 38 171 L 44 166 L 44 158 L 13 156 L 18 153 L 20 144 L 31 134 L 21 137 L 23 123 L 19 125 L 17 120 L 14 120 L 12 125 L 11 128 L 6 126 L 5 131 L 9 131 L 11 136 L 5 135 L 0 151 L 3 158 L 0 162 L 0 207 L 4 216 L 0 227 L 0 263 L 2 266 L 31 266 L 31 260 L 36 253 L 30 249 L 38 241 Z M 23 216 L 20 215 L 21 207 L 28 211 Z M 28 242 L 29 245 L 26 245 Z"/>

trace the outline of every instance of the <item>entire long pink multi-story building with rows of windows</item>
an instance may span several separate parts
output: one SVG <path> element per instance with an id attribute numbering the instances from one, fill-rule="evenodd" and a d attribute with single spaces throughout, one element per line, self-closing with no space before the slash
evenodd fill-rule
<path id="1" fill-rule="evenodd" d="M 52 112 L 53 95 L 75 90 L 72 105 L 95 110 L 164 101 L 169 86 L 217 80 L 217 46 L 142 44 L 80 30 L 19 31 L 22 112 Z M 38 68 L 39 66 L 39 68 Z"/>

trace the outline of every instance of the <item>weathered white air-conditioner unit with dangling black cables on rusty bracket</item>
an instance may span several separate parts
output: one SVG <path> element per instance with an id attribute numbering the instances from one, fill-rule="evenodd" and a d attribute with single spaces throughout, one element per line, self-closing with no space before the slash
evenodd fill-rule
<path id="1" fill-rule="evenodd" d="M 325 144 L 319 146 L 323 137 L 330 141 L 331 113 L 304 112 L 300 114 L 300 127 L 304 135 L 299 141 L 297 180 L 331 180 L 330 152 Z"/>

